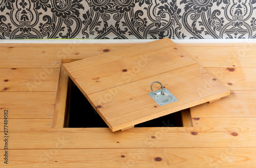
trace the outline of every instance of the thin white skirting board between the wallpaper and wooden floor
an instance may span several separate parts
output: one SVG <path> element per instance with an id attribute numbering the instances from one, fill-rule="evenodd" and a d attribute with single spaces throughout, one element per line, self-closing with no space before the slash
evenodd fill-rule
<path id="1" fill-rule="evenodd" d="M 4 43 L 145 43 L 156 39 L 20 39 L 0 40 Z M 172 39 L 175 43 L 251 43 L 256 39 Z"/>

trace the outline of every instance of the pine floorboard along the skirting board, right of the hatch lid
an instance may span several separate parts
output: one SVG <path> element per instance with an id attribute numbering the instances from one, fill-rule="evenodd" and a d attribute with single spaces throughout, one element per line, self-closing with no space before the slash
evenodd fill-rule
<path id="1" fill-rule="evenodd" d="M 178 45 L 203 67 L 255 67 L 256 43 Z"/>

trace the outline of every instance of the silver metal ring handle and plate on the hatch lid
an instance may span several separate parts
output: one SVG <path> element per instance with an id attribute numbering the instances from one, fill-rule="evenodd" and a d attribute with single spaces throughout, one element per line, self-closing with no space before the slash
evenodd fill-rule
<path id="1" fill-rule="evenodd" d="M 152 88 L 154 83 L 159 83 L 162 86 L 162 89 L 154 91 Z M 178 101 L 178 99 L 175 98 L 175 96 L 168 89 L 164 88 L 163 85 L 158 81 L 155 81 L 151 84 L 151 90 L 152 92 L 148 94 L 159 106 Z"/>

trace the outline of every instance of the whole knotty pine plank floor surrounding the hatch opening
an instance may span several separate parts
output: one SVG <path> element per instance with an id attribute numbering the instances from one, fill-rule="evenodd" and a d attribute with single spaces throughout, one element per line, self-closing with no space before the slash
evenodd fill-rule
<path id="1" fill-rule="evenodd" d="M 177 44 L 231 90 L 191 108 L 193 127 L 52 128 L 61 59 L 133 45 L 0 44 L 0 167 L 256 167 L 255 43 Z"/>

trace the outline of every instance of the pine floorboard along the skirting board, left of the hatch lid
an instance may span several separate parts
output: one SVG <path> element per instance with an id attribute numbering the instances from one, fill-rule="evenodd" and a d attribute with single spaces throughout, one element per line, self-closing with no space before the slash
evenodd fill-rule
<path id="1" fill-rule="evenodd" d="M 61 59 L 88 58 L 132 45 L 136 44 L 0 44 L 0 68 L 59 68 Z"/>

